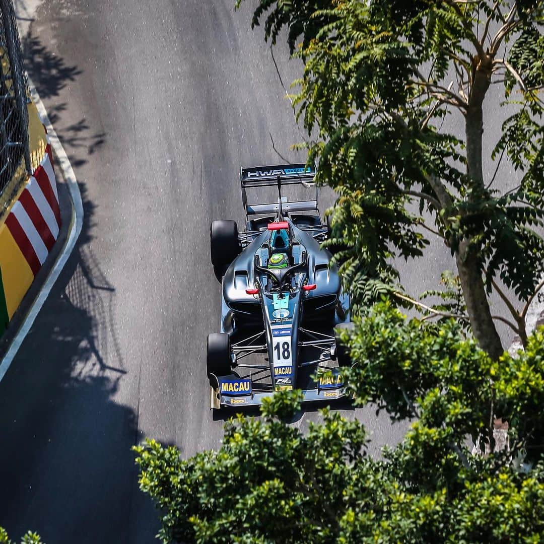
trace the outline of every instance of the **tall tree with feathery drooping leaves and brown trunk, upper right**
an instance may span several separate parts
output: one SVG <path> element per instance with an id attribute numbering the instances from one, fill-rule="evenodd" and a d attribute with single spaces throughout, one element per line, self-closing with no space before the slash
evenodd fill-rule
<path id="1" fill-rule="evenodd" d="M 544 3 L 261 0 L 253 25 L 263 20 L 273 44 L 287 27 L 304 62 L 294 107 L 318 181 L 339 194 L 330 244 L 347 244 L 336 258 L 359 309 L 386 291 L 415 304 L 391 257 L 420 257 L 426 236 L 438 236 L 455 255 L 481 347 L 503 353 L 493 290 L 511 313 L 498 319 L 526 344 L 544 266 L 534 230 L 544 213 Z M 504 119 L 500 134 L 484 132 L 495 84 L 505 97 L 491 113 Z M 448 114 L 461 116 L 464 137 L 441 130 Z M 482 168 L 484 136 L 494 144 L 492 172 Z M 500 192 L 505 162 L 517 179 Z"/>

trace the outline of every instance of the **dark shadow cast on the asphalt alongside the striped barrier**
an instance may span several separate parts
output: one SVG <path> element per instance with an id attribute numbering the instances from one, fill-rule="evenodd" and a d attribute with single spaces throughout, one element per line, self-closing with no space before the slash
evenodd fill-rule
<path id="1" fill-rule="evenodd" d="M 42 98 L 54 101 L 81 73 L 37 38 L 25 41 L 24 53 Z M 48 109 L 52 123 L 66 109 Z M 90 132 L 84 119 L 59 131 L 76 176 L 104 144 L 104 134 Z M 136 518 L 139 540 L 153 542 L 158 516 L 139 491 L 131 450 L 141 439 L 138 407 L 119 398 L 127 370 L 115 286 L 90 244 L 95 204 L 84 183 L 79 190 L 84 220 L 76 247 L 0 382 L 0 526 L 14 541 L 32 529 L 45 542 L 130 542 Z"/>

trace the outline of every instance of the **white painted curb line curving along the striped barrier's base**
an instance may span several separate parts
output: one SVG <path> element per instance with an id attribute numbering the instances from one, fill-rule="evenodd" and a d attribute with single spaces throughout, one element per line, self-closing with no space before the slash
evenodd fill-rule
<path id="1" fill-rule="evenodd" d="M 2 381 L 2 379 L 4 378 L 5 373 L 8 372 L 11 361 L 13 361 L 13 358 L 15 357 L 18 349 L 21 347 L 21 344 L 24 338 L 27 336 L 30 327 L 34 323 L 36 316 L 38 316 L 38 313 L 41 307 L 44 305 L 47 296 L 49 296 L 49 293 L 51 292 L 55 281 L 57 281 L 62 269 L 64 268 L 64 265 L 66 264 L 66 261 L 70 257 L 70 254 L 76 245 L 76 240 L 79 236 L 79 233 L 81 233 L 81 227 L 83 225 L 83 203 L 81 201 L 81 193 L 79 193 L 79 188 L 77 186 L 76 175 L 73 173 L 72 166 L 70 165 L 70 160 L 66 156 L 66 152 L 64 151 L 64 148 L 57 137 L 57 133 L 51 125 L 51 121 L 47 116 L 44 103 L 41 101 L 41 98 L 38 95 L 38 91 L 36 91 L 34 83 L 32 83 L 32 80 L 30 78 L 28 78 L 28 85 L 30 87 L 30 95 L 32 96 L 32 100 L 38 108 L 41 122 L 44 123 L 45 127 L 47 128 L 47 135 L 50 138 L 51 147 L 53 148 L 53 151 L 57 156 L 60 169 L 63 171 L 64 180 L 66 182 L 66 186 L 68 187 L 70 197 L 72 199 L 73 208 L 72 217 L 70 219 L 69 233 L 68 237 L 66 238 L 64 248 L 60 252 L 60 255 L 57 257 L 57 262 L 55 262 L 55 264 L 53 265 L 53 268 L 47 276 L 47 279 L 45 280 L 44 285 L 38 293 L 38 296 L 36 296 L 36 299 L 32 303 L 32 306 L 30 306 L 28 313 L 24 317 L 21 327 L 18 330 L 17 335 L 15 336 L 13 341 L 11 341 L 11 345 L 7 353 L 4 355 L 2 362 L 0 362 L 0 381 Z"/>

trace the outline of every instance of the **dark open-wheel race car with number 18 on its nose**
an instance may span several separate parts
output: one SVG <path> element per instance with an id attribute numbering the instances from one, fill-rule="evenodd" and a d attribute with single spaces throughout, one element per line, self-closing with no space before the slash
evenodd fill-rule
<path id="1" fill-rule="evenodd" d="M 259 405 L 293 388 L 304 401 L 347 395 L 341 369 L 350 361 L 337 335 L 349 326 L 349 295 L 320 247 L 329 227 L 315 175 L 304 164 L 242 168 L 245 230 L 232 220 L 212 222 L 211 261 L 222 289 L 220 332 L 207 342 L 211 409 Z M 312 189 L 313 198 L 289 201 L 287 186 Z M 277 201 L 248 203 L 248 189 L 271 187 Z"/>

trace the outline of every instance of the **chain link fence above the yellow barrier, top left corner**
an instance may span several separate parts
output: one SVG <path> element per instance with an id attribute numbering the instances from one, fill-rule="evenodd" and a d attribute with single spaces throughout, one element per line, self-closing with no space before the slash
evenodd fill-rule
<path id="1" fill-rule="evenodd" d="M 0 217 L 31 173 L 28 82 L 12 0 L 0 0 Z"/>

